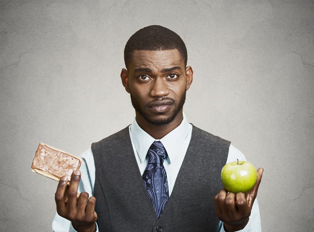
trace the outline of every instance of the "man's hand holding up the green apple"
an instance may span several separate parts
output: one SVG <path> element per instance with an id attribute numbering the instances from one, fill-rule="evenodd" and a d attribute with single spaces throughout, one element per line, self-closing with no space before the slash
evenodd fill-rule
<path id="1" fill-rule="evenodd" d="M 214 198 L 216 214 L 224 222 L 226 232 L 243 229 L 249 221 L 252 206 L 257 196 L 257 190 L 263 175 L 263 168 L 257 169 L 257 181 L 248 193 L 228 193 L 225 188 Z"/>

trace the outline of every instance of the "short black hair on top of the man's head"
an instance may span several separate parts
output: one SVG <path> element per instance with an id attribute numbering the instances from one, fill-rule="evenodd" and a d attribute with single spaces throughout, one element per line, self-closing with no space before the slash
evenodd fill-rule
<path id="1" fill-rule="evenodd" d="M 124 48 L 124 63 L 128 69 L 133 51 L 163 51 L 178 49 L 179 54 L 187 66 L 187 48 L 181 37 L 174 31 L 160 25 L 151 25 L 135 32 Z"/>

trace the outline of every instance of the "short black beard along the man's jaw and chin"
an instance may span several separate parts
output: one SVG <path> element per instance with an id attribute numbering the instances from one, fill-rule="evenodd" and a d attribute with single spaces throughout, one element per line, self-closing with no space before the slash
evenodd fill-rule
<path id="1" fill-rule="evenodd" d="M 162 118 L 162 119 L 154 119 L 154 118 L 151 118 L 149 115 L 146 114 L 146 112 L 143 110 L 143 108 L 138 103 L 137 99 L 134 97 L 134 95 L 130 91 L 131 102 L 132 102 L 132 105 L 133 105 L 135 111 L 137 111 L 141 116 L 143 116 L 143 118 L 146 121 L 148 121 L 150 124 L 153 124 L 153 125 L 165 125 L 165 124 L 172 122 L 176 118 L 178 113 L 181 111 L 181 109 L 183 108 L 183 105 L 184 105 L 185 99 L 186 99 L 186 95 L 187 95 L 187 90 L 184 91 L 179 102 L 175 101 L 172 98 L 168 98 L 168 97 L 156 98 L 155 101 L 169 99 L 169 100 L 173 101 L 173 105 L 176 108 L 170 116 Z"/>

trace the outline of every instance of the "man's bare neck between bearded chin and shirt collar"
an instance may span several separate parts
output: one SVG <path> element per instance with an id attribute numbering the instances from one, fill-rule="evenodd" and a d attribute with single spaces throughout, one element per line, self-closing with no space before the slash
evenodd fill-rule
<path id="1" fill-rule="evenodd" d="M 140 126 L 144 131 L 146 131 L 151 137 L 154 139 L 161 139 L 165 137 L 169 132 L 173 131 L 178 127 L 183 120 L 183 113 L 182 111 L 177 114 L 175 119 L 171 121 L 170 123 L 167 123 L 165 125 L 155 125 L 151 124 L 148 121 L 146 121 L 143 116 L 138 114 L 136 112 L 136 122 L 138 123 L 138 126 Z"/>

